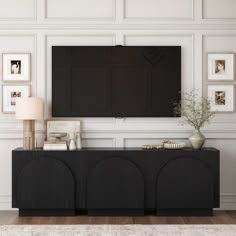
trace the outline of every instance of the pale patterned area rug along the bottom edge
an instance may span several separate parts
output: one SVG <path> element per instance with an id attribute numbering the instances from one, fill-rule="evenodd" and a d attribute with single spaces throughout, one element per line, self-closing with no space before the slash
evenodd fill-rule
<path id="1" fill-rule="evenodd" d="M 3 225 L 0 236 L 236 236 L 236 225 Z"/>

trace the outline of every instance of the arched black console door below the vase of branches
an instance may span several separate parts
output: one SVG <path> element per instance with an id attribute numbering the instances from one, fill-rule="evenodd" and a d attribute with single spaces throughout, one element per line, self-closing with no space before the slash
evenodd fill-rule
<path id="1" fill-rule="evenodd" d="M 156 197 L 157 209 L 213 208 L 213 174 L 197 158 L 171 160 L 158 173 Z"/>

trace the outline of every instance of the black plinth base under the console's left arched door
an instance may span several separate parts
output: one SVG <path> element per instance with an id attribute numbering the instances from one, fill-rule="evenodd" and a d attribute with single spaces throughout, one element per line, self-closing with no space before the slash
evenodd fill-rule
<path id="1" fill-rule="evenodd" d="M 74 209 L 19 209 L 19 216 L 74 216 Z"/>

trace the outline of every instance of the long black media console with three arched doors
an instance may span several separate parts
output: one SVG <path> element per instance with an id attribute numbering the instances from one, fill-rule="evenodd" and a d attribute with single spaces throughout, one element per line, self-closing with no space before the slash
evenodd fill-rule
<path id="1" fill-rule="evenodd" d="M 12 152 L 12 207 L 27 215 L 211 215 L 219 151 Z"/>

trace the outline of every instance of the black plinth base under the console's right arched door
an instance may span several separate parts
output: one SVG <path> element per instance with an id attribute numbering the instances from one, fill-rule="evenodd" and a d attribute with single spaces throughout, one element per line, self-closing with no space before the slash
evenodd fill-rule
<path id="1" fill-rule="evenodd" d="M 158 209 L 158 216 L 212 216 L 212 209 Z"/>

